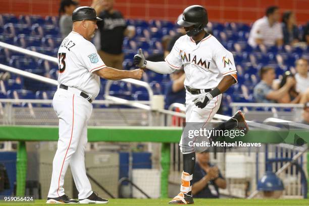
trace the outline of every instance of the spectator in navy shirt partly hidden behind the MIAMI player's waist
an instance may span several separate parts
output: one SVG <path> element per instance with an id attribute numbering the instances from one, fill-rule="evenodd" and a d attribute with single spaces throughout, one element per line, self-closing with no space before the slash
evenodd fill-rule
<path id="1" fill-rule="evenodd" d="M 171 81 L 165 87 L 165 108 L 173 103 L 185 104 L 186 90 L 184 88 L 185 73 L 183 69 L 170 74 Z"/>

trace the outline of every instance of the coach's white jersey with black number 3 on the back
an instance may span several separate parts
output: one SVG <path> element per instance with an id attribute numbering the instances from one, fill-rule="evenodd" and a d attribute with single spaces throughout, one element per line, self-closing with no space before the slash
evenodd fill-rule
<path id="1" fill-rule="evenodd" d="M 100 78 L 92 73 L 105 68 L 106 65 L 90 41 L 72 31 L 59 47 L 58 60 L 60 84 L 77 88 L 90 95 L 92 99 L 97 96 Z"/>

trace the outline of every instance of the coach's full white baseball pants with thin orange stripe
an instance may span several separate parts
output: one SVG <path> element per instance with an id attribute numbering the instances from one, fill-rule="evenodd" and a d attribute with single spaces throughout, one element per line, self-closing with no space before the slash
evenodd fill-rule
<path id="1" fill-rule="evenodd" d="M 85 170 L 85 148 L 87 144 L 87 122 L 91 116 L 92 105 L 80 96 L 80 90 L 69 87 L 56 91 L 53 99 L 54 110 L 59 118 L 59 140 L 53 161 L 52 181 L 48 197 L 65 194 L 64 177 L 70 165 L 78 198 L 92 194 Z"/>

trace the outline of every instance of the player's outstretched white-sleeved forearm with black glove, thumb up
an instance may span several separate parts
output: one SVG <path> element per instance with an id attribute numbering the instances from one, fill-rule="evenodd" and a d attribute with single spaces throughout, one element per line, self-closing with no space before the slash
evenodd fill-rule
<path id="1" fill-rule="evenodd" d="M 133 64 L 160 74 L 171 74 L 176 70 L 170 67 L 167 62 L 146 61 L 141 48 L 138 50 L 138 54 L 134 56 Z"/>

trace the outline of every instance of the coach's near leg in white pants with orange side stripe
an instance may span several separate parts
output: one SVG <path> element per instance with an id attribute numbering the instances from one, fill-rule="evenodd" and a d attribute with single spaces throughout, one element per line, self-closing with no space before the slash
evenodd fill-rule
<path id="1" fill-rule="evenodd" d="M 88 112 L 80 104 L 82 100 L 80 98 L 83 97 L 62 89 L 58 89 L 55 93 L 53 106 L 59 118 L 59 140 L 53 161 L 52 181 L 47 196 L 48 199 L 65 194 L 63 188 L 65 173 L 71 157 L 77 149 L 84 122 L 86 121 L 86 113 Z"/>

